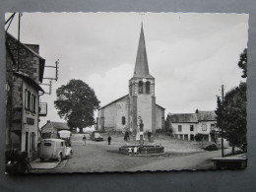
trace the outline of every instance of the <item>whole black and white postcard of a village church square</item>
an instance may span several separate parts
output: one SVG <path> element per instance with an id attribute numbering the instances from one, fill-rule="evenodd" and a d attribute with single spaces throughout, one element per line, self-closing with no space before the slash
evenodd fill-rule
<path id="1" fill-rule="evenodd" d="M 248 20 L 6 13 L 6 173 L 246 168 Z"/>

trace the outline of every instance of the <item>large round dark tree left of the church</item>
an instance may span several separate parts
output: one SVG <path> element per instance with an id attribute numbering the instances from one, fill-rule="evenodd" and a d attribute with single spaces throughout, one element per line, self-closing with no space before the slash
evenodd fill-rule
<path id="1" fill-rule="evenodd" d="M 80 128 L 95 124 L 94 113 L 99 107 L 95 91 L 81 80 L 70 80 L 56 91 L 57 99 L 54 101 L 60 118 L 67 120 L 71 128 Z"/>

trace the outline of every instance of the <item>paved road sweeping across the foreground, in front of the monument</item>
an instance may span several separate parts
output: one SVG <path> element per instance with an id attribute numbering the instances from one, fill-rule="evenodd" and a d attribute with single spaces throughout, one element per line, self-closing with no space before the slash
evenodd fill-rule
<path id="1" fill-rule="evenodd" d="M 209 169 L 213 166 L 210 159 L 221 156 L 221 151 L 215 151 L 178 157 L 129 157 L 118 154 L 119 146 L 118 142 L 108 146 L 106 141 L 87 141 L 87 145 L 83 146 L 82 141 L 73 141 L 73 157 L 50 172 Z"/>

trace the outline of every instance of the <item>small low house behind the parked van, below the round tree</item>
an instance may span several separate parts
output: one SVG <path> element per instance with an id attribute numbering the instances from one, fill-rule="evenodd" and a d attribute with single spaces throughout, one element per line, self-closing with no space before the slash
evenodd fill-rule
<path id="1" fill-rule="evenodd" d="M 70 127 L 65 122 L 54 122 L 48 120 L 47 123 L 41 127 L 41 138 L 58 138 L 58 131 L 61 130 L 70 131 Z"/>

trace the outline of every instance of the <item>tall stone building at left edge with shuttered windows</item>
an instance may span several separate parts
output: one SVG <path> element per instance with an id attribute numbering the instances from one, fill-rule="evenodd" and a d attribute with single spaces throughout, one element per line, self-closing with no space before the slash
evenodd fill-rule
<path id="1" fill-rule="evenodd" d="M 39 96 L 45 60 L 39 45 L 24 44 L 6 32 L 6 151 L 37 153 Z"/>

